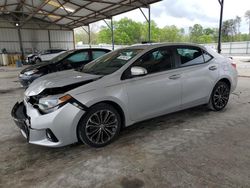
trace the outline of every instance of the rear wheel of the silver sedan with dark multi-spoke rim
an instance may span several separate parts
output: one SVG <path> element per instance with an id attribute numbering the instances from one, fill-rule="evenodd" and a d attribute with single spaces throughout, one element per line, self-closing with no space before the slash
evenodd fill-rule
<path id="1" fill-rule="evenodd" d="M 230 87 L 227 83 L 219 81 L 210 96 L 209 108 L 214 111 L 224 109 L 229 101 Z"/>

